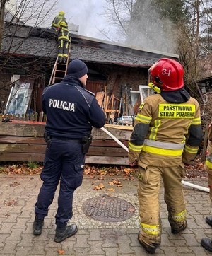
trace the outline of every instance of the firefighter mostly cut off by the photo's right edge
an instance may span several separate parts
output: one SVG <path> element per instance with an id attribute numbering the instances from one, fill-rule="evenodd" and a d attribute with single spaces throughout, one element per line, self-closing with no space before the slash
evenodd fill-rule
<path id="1" fill-rule="evenodd" d="M 210 192 L 210 199 L 212 202 L 212 122 L 208 127 L 208 146 L 206 151 L 206 162 L 204 170 L 208 172 L 208 187 Z M 206 223 L 212 226 L 212 215 L 206 216 Z M 202 238 L 201 245 L 208 251 L 212 252 L 212 240 L 210 238 Z"/>

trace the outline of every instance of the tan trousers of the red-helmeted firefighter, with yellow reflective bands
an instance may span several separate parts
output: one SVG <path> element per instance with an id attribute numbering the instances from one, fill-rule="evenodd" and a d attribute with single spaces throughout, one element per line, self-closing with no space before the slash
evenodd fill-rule
<path id="1" fill-rule="evenodd" d="M 182 178 L 184 166 L 158 167 L 146 164 L 139 166 L 139 215 L 141 232 L 139 240 L 148 245 L 160 245 L 162 224 L 160 221 L 160 184 L 164 185 L 168 221 L 172 228 L 179 228 L 186 220 Z"/>

